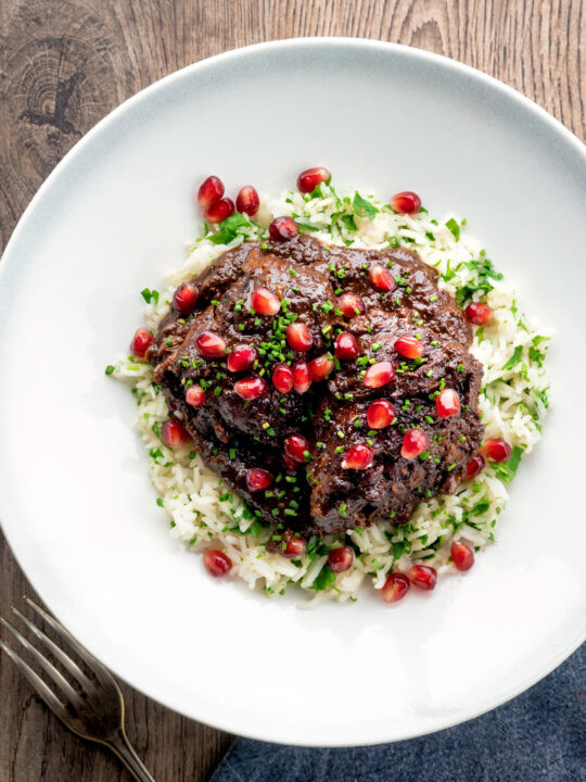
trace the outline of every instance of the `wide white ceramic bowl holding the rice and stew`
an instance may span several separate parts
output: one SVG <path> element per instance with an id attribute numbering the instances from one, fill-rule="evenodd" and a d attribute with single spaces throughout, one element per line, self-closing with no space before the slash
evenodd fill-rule
<path id="1" fill-rule="evenodd" d="M 198 229 L 194 184 L 293 186 L 309 165 L 469 220 L 520 306 L 553 331 L 552 409 L 498 543 L 390 607 L 301 611 L 209 579 L 168 535 L 104 376 L 139 291 Z M 0 274 L 0 508 L 34 586 L 115 673 L 170 708 L 269 741 L 394 741 L 469 719 L 585 638 L 586 155 L 513 90 L 387 43 L 281 41 L 153 85 L 102 121 L 33 200 Z"/>

